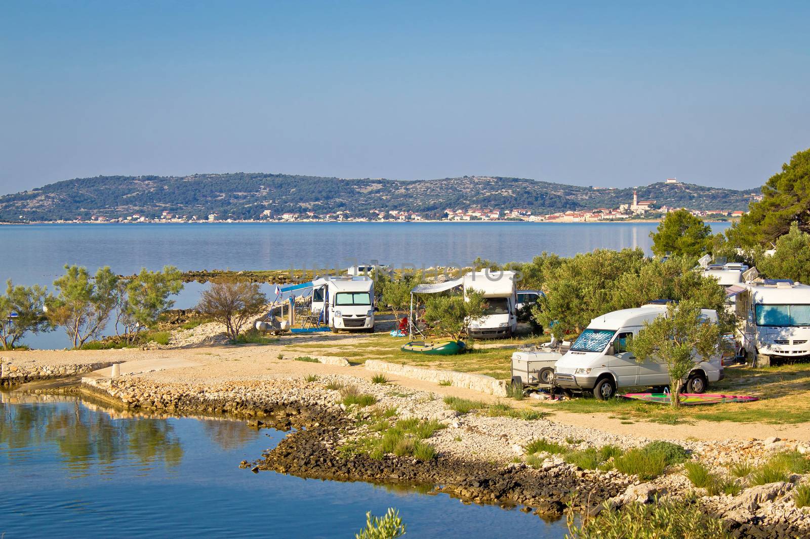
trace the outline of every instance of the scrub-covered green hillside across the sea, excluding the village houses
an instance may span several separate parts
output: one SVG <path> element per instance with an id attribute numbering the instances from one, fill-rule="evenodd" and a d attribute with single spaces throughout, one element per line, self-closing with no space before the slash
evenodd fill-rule
<path id="1" fill-rule="evenodd" d="M 690 184 L 655 183 L 637 188 L 639 200 L 697 210 L 746 210 L 759 189 L 737 191 Z M 233 173 L 194 176 L 96 176 L 59 181 L 0 197 L 0 221 L 56 221 L 92 215 L 117 218 L 161 212 L 205 219 L 258 219 L 272 214 L 338 210 L 413 210 L 439 216 L 445 209 L 527 208 L 534 214 L 615 208 L 633 200 L 633 189 L 592 189 L 539 180 L 464 176 L 441 180 L 347 180 L 287 174 Z"/>

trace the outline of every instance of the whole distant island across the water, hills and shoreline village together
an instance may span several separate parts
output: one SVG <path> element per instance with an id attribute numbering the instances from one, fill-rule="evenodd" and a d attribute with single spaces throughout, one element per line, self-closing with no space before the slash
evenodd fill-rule
<path id="1" fill-rule="evenodd" d="M 656 219 L 687 208 L 743 214 L 760 189 L 674 179 L 637 188 L 501 176 L 386 180 L 229 173 L 76 178 L 0 197 L 2 223 L 210 221 L 553 221 Z"/>

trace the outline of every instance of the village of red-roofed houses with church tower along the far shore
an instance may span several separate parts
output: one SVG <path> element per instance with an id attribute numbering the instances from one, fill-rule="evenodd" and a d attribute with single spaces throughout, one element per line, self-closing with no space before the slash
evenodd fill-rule
<path id="1" fill-rule="evenodd" d="M 675 178 L 667 178 L 667 184 L 676 184 Z M 592 187 L 591 189 L 612 189 Z M 761 194 L 753 195 L 752 201 L 758 202 L 762 198 Z M 117 218 L 110 218 L 104 215 L 92 215 L 91 218 L 83 219 L 76 217 L 72 221 L 57 221 L 57 223 L 263 223 L 263 222 L 302 222 L 302 223 L 327 223 L 327 222 L 359 222 L 359 223 L 390 223 L 390 222 L 504 222 L 504 221 L 525 221 L 529 223 L 593 223 L 599 221 L 616 222 L 625 220 L 659 220 L 676 210 L 689 210 L 696 217 L 703 219 L 739 219 L 745 212 L 742 210 L 728 210 L 715 208 L 710 210 L 695 210 L 683 207 L 672 207 L 656 204 L 654 200 L 638 200 L 637 191 L 633 191 L 633 200 L 626 204 L 620 204 L 616 208 L 599 207 L 590 210 L 567 210 L 552 214 L 536 214 L 527 208 L 445 208 L 441 212 L 431 212 L 427 214 L 414 210 L 369 210 L 362 214 L 352 213 L 348 210 L 338 210 L 319 214 L 312 210 L 301 208 L 297 211 L 278 212 L 274 210 L 264 210 L 261 219 L 231 219 L 227 215 L 217 213 L 205 215 L 180 215 L 172 211 L 164 210 L 160 216 L 149 216 L 146 214 L 134 213 L 122 215 Z M 438 219 L 436 219 L 438 217 Z M 23 216 L 20 216 L 23 219 Z"/>

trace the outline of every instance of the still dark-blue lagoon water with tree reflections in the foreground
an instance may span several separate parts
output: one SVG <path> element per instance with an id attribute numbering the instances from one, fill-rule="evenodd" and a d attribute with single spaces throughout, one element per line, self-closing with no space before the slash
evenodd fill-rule
<path id="1" fill-rule="evenodd" d="M 244 421 L 133 417 L 0 393 L 0 533 L 15 537 L 354 537 L 399 509 L 406 537 L 563 537 L 565 522 L 445 494 L 239 469 L 283 438 Z"/>

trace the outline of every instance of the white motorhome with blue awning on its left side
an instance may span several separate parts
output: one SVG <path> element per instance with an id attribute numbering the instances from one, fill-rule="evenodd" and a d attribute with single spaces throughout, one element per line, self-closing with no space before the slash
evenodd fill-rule
<path id="1" fill-rule="evenodd" d="M 374 329 L 374 280 L 365 276 L 326 277 L 313 281 L 312 312 L 334 333 Z"/>

